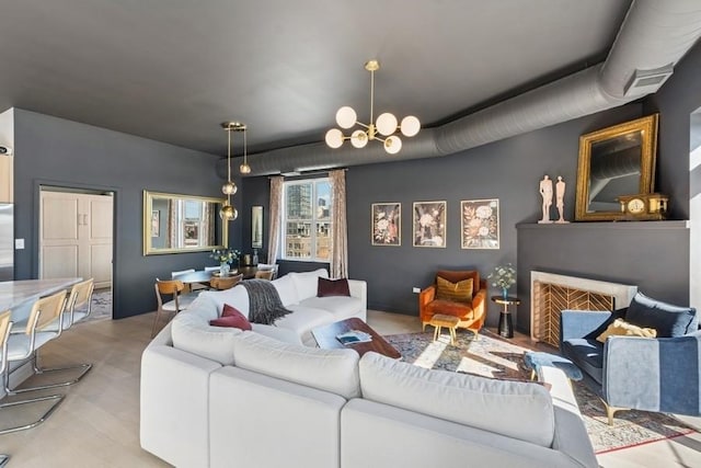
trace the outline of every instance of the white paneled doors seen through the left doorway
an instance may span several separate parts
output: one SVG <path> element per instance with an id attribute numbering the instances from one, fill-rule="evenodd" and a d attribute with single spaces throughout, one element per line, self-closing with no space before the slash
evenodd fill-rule
<path id="1" fill-rule="evenodd" d="M 94 278 L 112 285 L 113 197 L 42 191 L 39 277 Z"/>

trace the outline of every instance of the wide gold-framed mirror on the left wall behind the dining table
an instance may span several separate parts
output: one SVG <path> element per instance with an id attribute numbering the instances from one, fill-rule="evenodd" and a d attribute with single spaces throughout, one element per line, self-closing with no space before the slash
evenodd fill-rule
<path id="1" fill-rule="evenodd" d="M 223 198 L 143 191 L 143 254 L 199 252 L 228 244 Z"/>

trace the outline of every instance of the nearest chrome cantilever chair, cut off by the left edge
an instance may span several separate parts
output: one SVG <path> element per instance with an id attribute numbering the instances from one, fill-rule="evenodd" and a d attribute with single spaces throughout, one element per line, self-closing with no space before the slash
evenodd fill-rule
<path id="1" fill-rule="evenodd" d="M 0 374 L 2 374 L 3 381 L 8 380 L 8 376 L 10 374 L 10 368 L 9 368 L 10 355 L 16 355 L 22 353 L 22 350 L 19 350 L 21 343 L 15 341 L 13 344 L 10 344 L 11 330 L 12 330 L 12 312 L 10 310 L 5 310 L 4 312 L 0 313 L 0 349 L 2 350 L 0 351 Z M 43 423 L 54 412 L 54 410 L 56 410 L 56 408 L 62 400 L 64 400 L 62 395 L 49 395 L 49 396 L 44 396 L 38 398 L 31 398 L 26 400 L 14 400 L 10 402 L 0 401 L 0 410 L 3 410 L 5 408 L 13 408 L 13 407 L 19 407 L 24 404 L 43 402 L 43 401 L 54 401 L 54 403 L 48 408 L 47 411 L 44 412 L 44 414 L 42 414 L 39 419 L 27 424 L 2 429 L 0 430 L 0 434 L 9 434 L 11 432 L 32 429 Z M 10 459 L 9 455 L 0 455 L 0 467 L 5 466 L 9 459 Z"/>

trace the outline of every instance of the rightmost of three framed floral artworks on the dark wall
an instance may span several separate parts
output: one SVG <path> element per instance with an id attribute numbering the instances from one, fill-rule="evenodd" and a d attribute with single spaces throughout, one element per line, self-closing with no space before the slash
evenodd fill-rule
<path id="1" fill-rule="evenodd" d="M 463 249 L 499 248 L 498 198 L 460 202 L 460 219 Z"/>

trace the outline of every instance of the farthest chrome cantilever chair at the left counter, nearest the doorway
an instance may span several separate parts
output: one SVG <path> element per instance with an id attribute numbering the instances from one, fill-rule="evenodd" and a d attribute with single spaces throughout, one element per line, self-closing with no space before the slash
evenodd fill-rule
<path id="1" fill-rule="evenodd" d="M 53 331 L 56 333 L 66 331 L 73 327 L 76 323 L 85 320 L 90 317 L 92 310 L 92 293 L 94 290 L 94 279 L 85 279 L 83 282 L 77 283 L 70 290 L 68 298 L 64 306 L 64 313 L 60 319 L 54 320 L 51 323 L 44 328 L 45 331 Z M 59 321 L 60 320 L 60 321 Z M 60 330 L 59 330 L 60 327 Z M 36 358 L 34 361 L 34 373 L 35 374 L 46 374 L 53 372 L 61 372 L 61 370 L 72 370 L 72 369 L 82 369 L 82 372 L 73 377 L 70 380 L 66 380 L 62 383 L 51 384 L 49 386 L 44 386 L 44 388 L 54 388 L 54 387 L 64 387 L 73 385 L 80 381 L 85 374 L 90 372 L 92 368 L 92 364 L 83 363 L 83 364 L 73 364 L 64 367 L 50 367 L 43 368 L 39 367 L 38 363 L 38 351 L 36 353 Z"/>

